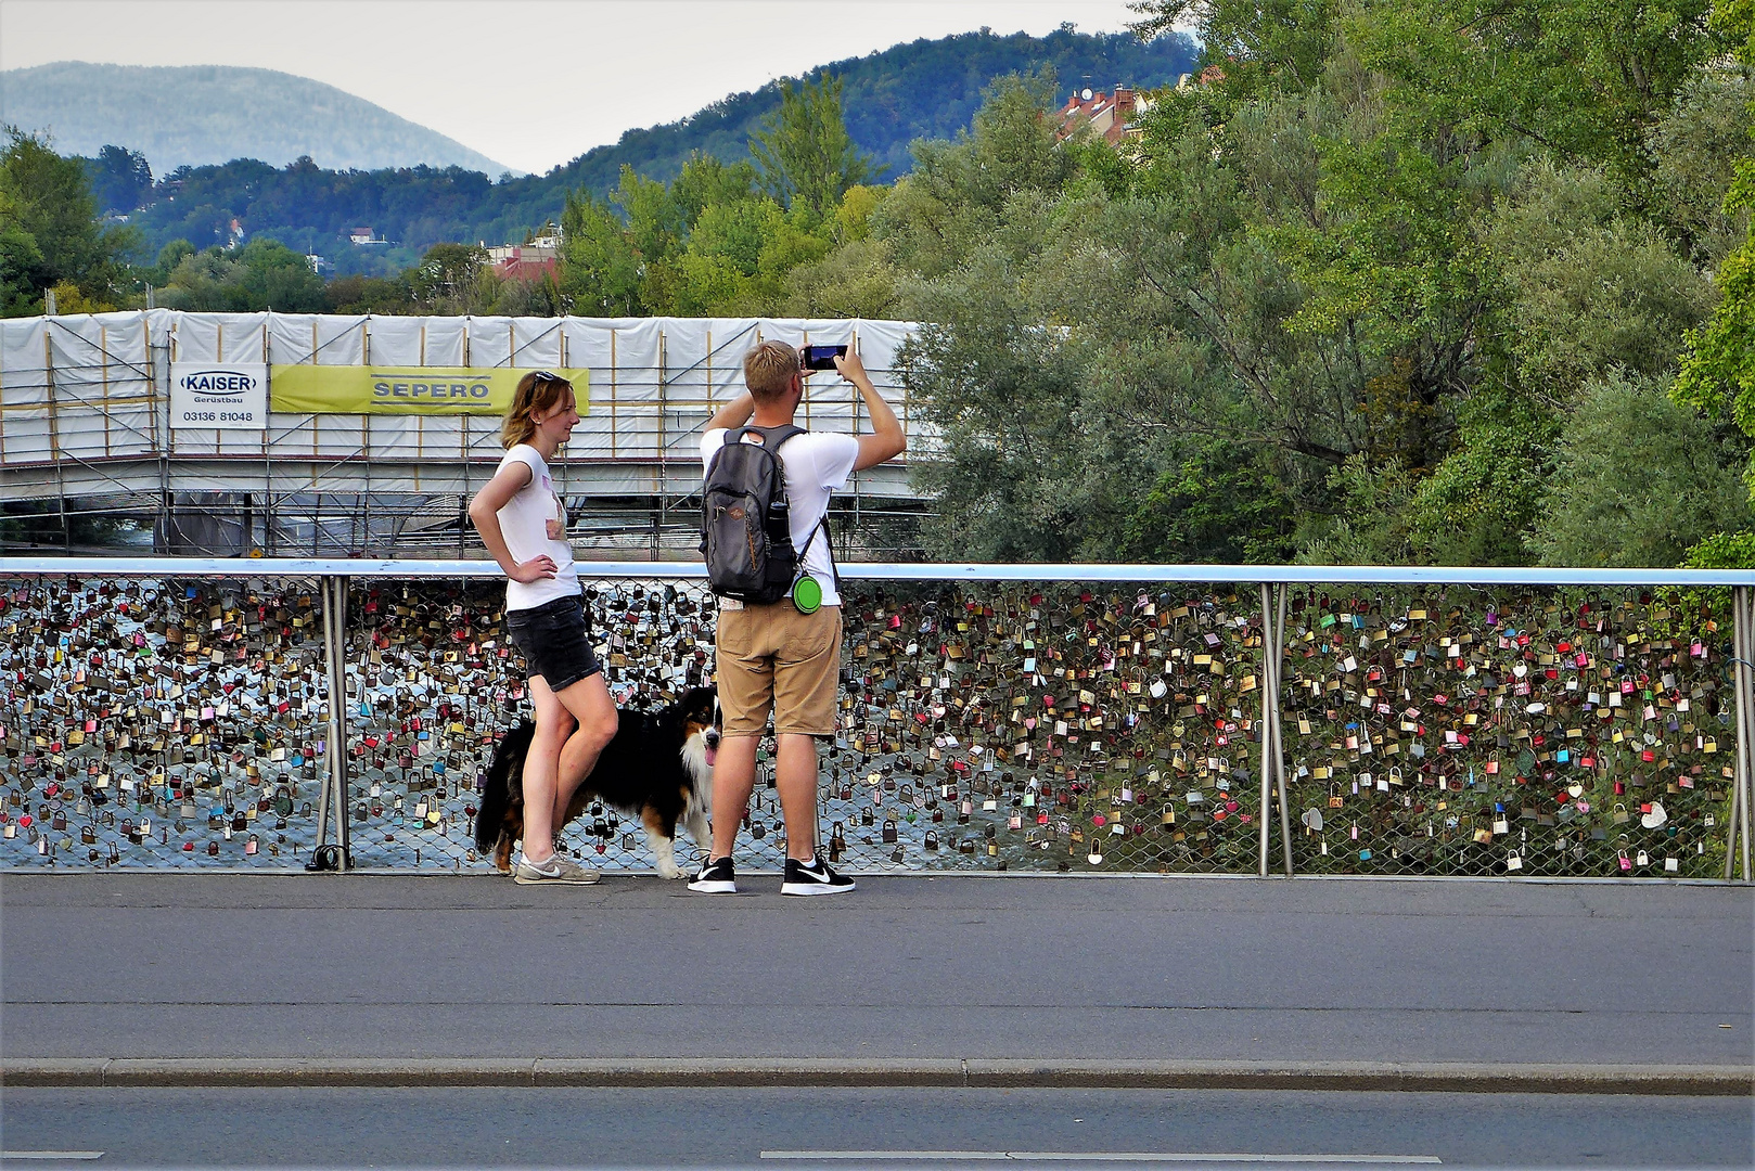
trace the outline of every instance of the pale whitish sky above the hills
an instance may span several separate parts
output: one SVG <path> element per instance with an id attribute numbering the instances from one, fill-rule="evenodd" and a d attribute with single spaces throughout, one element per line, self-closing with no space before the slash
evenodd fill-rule
<path id="1" fill-rule="evenodd" d="M 546 172 L 623 130 L 918 37 L 1128 19 L 1127 0 L 0 0 L 0 68 L 277 68 Z"/>

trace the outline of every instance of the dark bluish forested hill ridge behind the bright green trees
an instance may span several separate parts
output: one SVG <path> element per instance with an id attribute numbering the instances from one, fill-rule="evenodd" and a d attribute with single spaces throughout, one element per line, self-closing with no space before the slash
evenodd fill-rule
<path id="1" fill-rule="evenodd" d="M 967 128 L 983 88 L 995 77 L 1046 67 L 1064 98 L 1086 84 L 1099 90 L 1118 83 L 1171 84 L 1188 72 L 1193 58 L 1195 47 L 1185 37 L 1139 44 L 1127 33 L 1088 35 L 1062 26 L 1046 37 L 974 32 L 921 39 L 823 65 L 806 81 L 825 72 L 844 81 L 848 132 L 876 165 L 888 167 L 881 177 L 892 181 L 909 170 L 909 142 L 953 139 Z M 370 226 L 402 246 L 372 255 L 386 263 L 409 263 L 419 249 L 442 241 L 523 239 L 528 228 L 560 219 L 569 190 L 609 191 L 623 165 L 669 179 L 691 151 L 725 162 L 748 158 L 749 132 L 779 109 L 779 83 L 737 93 L 691 118 L 630 130 L 614 146 L 597 147 L 546 176 L 504 183 L 458 167 L 335 172 L 309 162 L 270 167 L 251 160 L 197 167 L 144 195 L 147 205 L 132 221 L 156 249 L 174 239 L 197 248 L 223 244 L 235 218 L 253 237 L 274 235 L 340 260 L 344 269 L 363 258 L 362 249 L 346 242 L 349 228 Z"/>

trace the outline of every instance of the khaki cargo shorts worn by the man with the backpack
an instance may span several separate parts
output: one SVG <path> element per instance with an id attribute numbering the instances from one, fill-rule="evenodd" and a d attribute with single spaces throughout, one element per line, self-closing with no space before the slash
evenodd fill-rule
<path id="1" fill-rule="evenodd" d="M 841 688 L 841 607 L 800 614 L 792 599 L 720 606 L 714 648 L 725 736 L 834 736 Z"/>

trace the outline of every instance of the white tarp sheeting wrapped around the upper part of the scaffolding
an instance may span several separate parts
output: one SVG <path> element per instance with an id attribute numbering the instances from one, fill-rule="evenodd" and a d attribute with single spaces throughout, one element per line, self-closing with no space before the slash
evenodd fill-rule
<path id="1" fill-rule="evenodd" d="M 498 458 L 498 421 L 470 416 L 269 416 L 267 432 L 168 430 L 168 363 L 586 367 L 590 413 L 570 460 L 690 460 L 702 423 L 742 390 L 758 339 L 858 341 L 878 390 L 911 442 L 930 435 L 909 411 L 895 355 L 907 321 L 756 318 L 377 318 L 147 309 L 0 321 L 0 467 L 105 456 L 232 456 L 258 462 Z M 851 384 L 816 376 L 800 423 L 853 430 Z M 920 448 L 916 446 L 916 451 Z M 261 467 L 261 463 L 258 463 Z M 90 471 L 90 469 L 88 469 Z M 405 478 L 405 474 L 404 474 Z M 312 488 L 321 488 L 312 472 Z M 407 485 L 402 485 L 407 486 Z M 414 490 L 419 490 L 414 485 Z"/>

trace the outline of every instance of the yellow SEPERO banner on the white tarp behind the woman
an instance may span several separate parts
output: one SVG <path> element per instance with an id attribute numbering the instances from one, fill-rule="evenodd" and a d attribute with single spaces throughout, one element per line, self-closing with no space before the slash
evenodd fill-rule
<path id="1" fill-rule="evenodd" d="M 276 365 L 269 406 L 288 414 L 505 414 L 518 379 L 535 367 Z M 590 370 L 553 370 L 590 407 Z"/>

